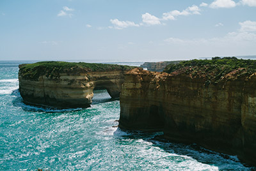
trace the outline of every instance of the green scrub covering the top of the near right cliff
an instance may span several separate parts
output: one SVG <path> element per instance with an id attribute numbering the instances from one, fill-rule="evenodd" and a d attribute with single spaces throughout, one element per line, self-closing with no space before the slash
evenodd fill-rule
<path id="1" fill-rule="evenodd" d="M 212 57 L 193 59 L 179 64 L 169 64 L 164 68 L 166 73 L 186 73 L 191 77 L 205 77 L 209 84 L 218 83 L 222 78 L 237 78 L 256 72 L 256 61 L 237 59 L 236 57 Z"/>

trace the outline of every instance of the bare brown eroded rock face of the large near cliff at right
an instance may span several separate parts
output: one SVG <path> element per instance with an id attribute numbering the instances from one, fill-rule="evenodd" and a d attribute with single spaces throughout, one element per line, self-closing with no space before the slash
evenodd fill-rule
<path id="1" fill-rule="evenodd" d="M 204 73 L 134 69 L 120 94 L 120 128 L 164 131 L 164 138 L 196 142 L 256 163 L 256 73 L 244 68 L 209 84 Z"/>

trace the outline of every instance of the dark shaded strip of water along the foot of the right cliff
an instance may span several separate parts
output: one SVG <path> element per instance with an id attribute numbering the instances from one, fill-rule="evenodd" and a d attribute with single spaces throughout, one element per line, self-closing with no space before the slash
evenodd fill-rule
<path id="1" fill-rule="evenodd" d="M 197 144 L 169 142 L 161 138 L 161 135 L 163 135 L 163 132 L 145 133 L 142 131 L 128 131 L 120 128 L 114 133 L 114 136 L 120 140 L 120 143 L 124 143 L 124 140 L 127 139 L 142 139 L 147 143 L 152 143 L 155 147 L 159 147 L 165 152 L 174 154 L 170 160 L 196 160 L 200 163 L 218 167 L 219 170 L 244 170 L 244 168 L 246 168 L 246 170 L 256 170 L 256 167 L 243 165 L 236 156 L 210 151 Z M 237 166 L 236 169 L 234 169 L 234 165 Z M 233 168 L 230 168 L 230 166 Z"/>

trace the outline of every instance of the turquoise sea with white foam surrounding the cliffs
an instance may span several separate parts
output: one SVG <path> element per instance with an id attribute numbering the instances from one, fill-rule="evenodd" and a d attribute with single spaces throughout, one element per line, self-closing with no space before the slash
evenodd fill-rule
<path id="1" fill-rule="evenodd" d="M 116 128 L 119 101 L 111 100 L 106 91 L 95 91 L 90 108 L 24 105 L 18 91 L 20 63 L 24 62 L 0 62 L 0 170 L 253 169 L 236 156 L 196 144 L 154 140 L 161 132 Z"/>

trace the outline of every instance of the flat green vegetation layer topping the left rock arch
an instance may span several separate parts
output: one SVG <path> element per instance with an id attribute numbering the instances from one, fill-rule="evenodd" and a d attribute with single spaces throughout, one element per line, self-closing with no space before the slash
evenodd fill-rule
<path id="1" fill-rule="evenodd" d="M 33 64 L 20 65 L 19 75 L 25 79 L 37 80 L 38 77 L 46 75 L 58 78 L 60 73 L 82 73 L 92 71 L 125 71 L 132 70 L 134 66 L 100 63 L 68 63 L 62 61 L 43 61 Z"/>

